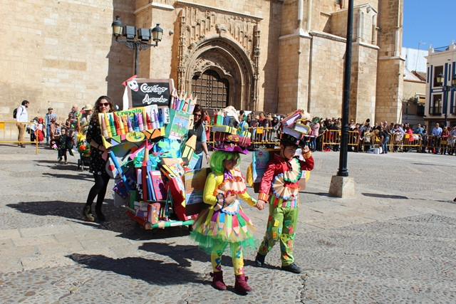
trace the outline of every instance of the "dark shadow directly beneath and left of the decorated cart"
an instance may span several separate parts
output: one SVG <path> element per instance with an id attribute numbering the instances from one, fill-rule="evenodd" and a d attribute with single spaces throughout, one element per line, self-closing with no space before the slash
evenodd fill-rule
<path id="1" fill-rule="evenodd" d="M 83 224 L 96 229 L 118 232 L 118 237 L 135 241 L 150 239 L 169 239 L 172 237 L 187 236 L 190 234 L 186 226 L 170 227 L 167 229 L 145 230 L 144 227 L 130 219 L 125 214 L 125 209 L 114 206 L 113 199 L 105 199 L 103 214 L 107 221 L 90 222 L 83 218 L 83 202 L 74 201 L 23 201 L 15 204 L 6 204 L 26 214 L 38 216 L 60 216 L 71 220 L 73 223 Z M 95 203 L 92 205 L 95 212 Z M 96 216 L 95 216 L 96 217 Z"/>

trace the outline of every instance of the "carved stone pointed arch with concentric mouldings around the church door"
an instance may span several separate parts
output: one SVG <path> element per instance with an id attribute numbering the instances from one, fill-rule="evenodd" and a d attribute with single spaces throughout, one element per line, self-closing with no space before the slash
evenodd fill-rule
<path id="1" fill-rule="evenodd" d="M 238 110 L 253 110 L 257 100 L 253 63 L 236 41 L 214 36 L 195 43 L 185 66 L 185 90 L 190 90 L 194 75 L 214 70 L 228 80 L 228 104 Z"/>

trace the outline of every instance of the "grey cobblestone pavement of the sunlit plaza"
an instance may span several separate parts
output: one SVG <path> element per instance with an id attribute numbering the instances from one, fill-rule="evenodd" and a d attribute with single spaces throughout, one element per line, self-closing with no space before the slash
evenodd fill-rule
<path id="1" fill-rule="evenodd" d="M 187 227 L 145 231 L 110 193 L 108 221 L 83 221 L 93 181 L 76 157 L 0 145 L 0 303 L 456 303 L 456 157 L 349 153 L 350 199 L 327 195 L 338 153 L 314 158 L 295 239 L 306 273 L 281 271 L 278 246 L 266 268 L 247 252 L 254 290 L 238 295 L 228 256 L 228 290 L 211 287 Z M 244 205 L 261 241 L 267 211 Z"/>

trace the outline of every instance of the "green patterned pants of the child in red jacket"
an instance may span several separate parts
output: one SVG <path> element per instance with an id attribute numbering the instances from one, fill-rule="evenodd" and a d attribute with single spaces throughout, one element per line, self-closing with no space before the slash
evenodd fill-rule
<path id="1" fill-rule="evenodd" d="M 271 251 L 277 240 L 280 240 L 282 266 L 293 263 L 294 236 L 296 234 L 296 221 L 298 208 L 284 208 L 269 204 L 269 218 L 266 234 L 259 246 L 258 252 L 263 256 Z"/>

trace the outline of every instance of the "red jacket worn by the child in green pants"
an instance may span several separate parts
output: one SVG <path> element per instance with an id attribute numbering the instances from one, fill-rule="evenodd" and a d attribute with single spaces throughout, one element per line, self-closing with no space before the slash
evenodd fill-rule
<path id="1" fill-rule="evenodd" d="M 301 171 L 306 170 L 310 171 L 314 169 L 314 157 L 312 157 L 311 152 L 307 152 L 310 155 L 306 158 L 306 154 L 304 154 L 304 159 L 306 161 L 299 160 L 299 164 L 301 166 Z M 263 174 L 263 178 L 261 178 L 261 185 L 259 187 L 259 196 L 258 199 L 262 199 L 264 201 L 268 201 L 269 194 L 271 194 L 271 185 L 274 177 L 277 175 L 287 172 L 291 169 L 291 164 L 289 159 L 284 159 L 280 157 L 278 154 L 274 154 L 274 159 L 269 160 L 266 164 L 266 171 Z M 305 177 L 303 177 L 305 178 Z M 286 184 L 290 187 L 299 187 L 298 182 L 286 182 Z"/>

